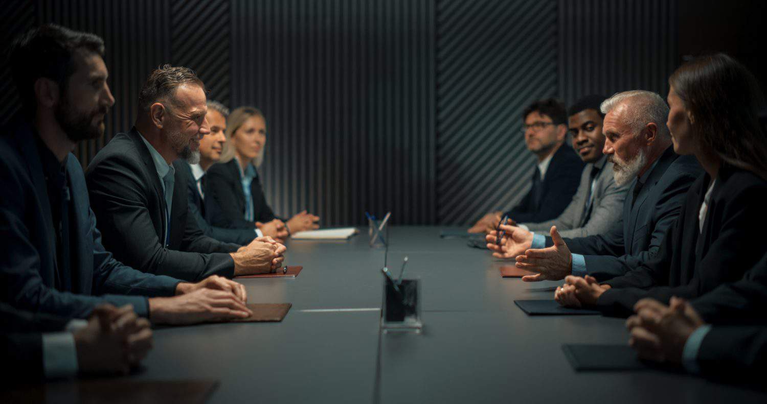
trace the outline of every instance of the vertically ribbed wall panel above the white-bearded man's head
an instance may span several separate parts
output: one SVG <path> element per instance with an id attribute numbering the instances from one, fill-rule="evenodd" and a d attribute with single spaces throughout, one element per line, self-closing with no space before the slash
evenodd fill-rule
<path id="1" fill-rule="evenodd" d="M 558 0 L 560 97 L 650 90 L 679 65 L 676 0 Z"/>

